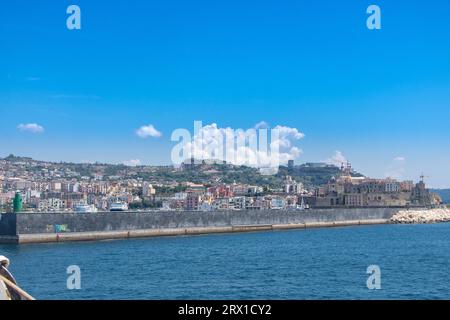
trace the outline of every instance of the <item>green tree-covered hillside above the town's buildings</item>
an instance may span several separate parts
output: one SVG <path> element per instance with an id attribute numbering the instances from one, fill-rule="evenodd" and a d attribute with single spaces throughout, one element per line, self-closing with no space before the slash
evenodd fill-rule
<path id="1" fill-rule="evenodd" d="M 287 175 L 292 176 L 297 182 L 302 182 L 307 188 L 326 184 L 332 177 L 340 175 L 340 168 L 326 164 L 302 164 L 288 169 L 281 166 L 276 175 L 262 175 L 258 169 L 247 166 L 235 166 L 230 164 L 201 164 L 189 170 L 175 169 L 172 166 L 138 166 L 129 167 L 123 164 L 105 163 L 52 163 L 36 161 L 26 157 L 10 155 L 4 160 L 10 162 L 31 163 L 27 170 L 41 171 L 44 168 L 64 172 L 76 173 L 76 177 L 103 176 L 103 179 L 121 177 L 123 179 L 142 179 L 153 184 L 179 184 L 193 182 L 198 184 L 250 184 L 264 186 L 271 189 L 280 188 Z M 361 176 L 359 173 L 352 173 Z M 164 193 L 164 190 L 159 190 Z M 448 197 L 447 197 L 448 199 Z"/>

